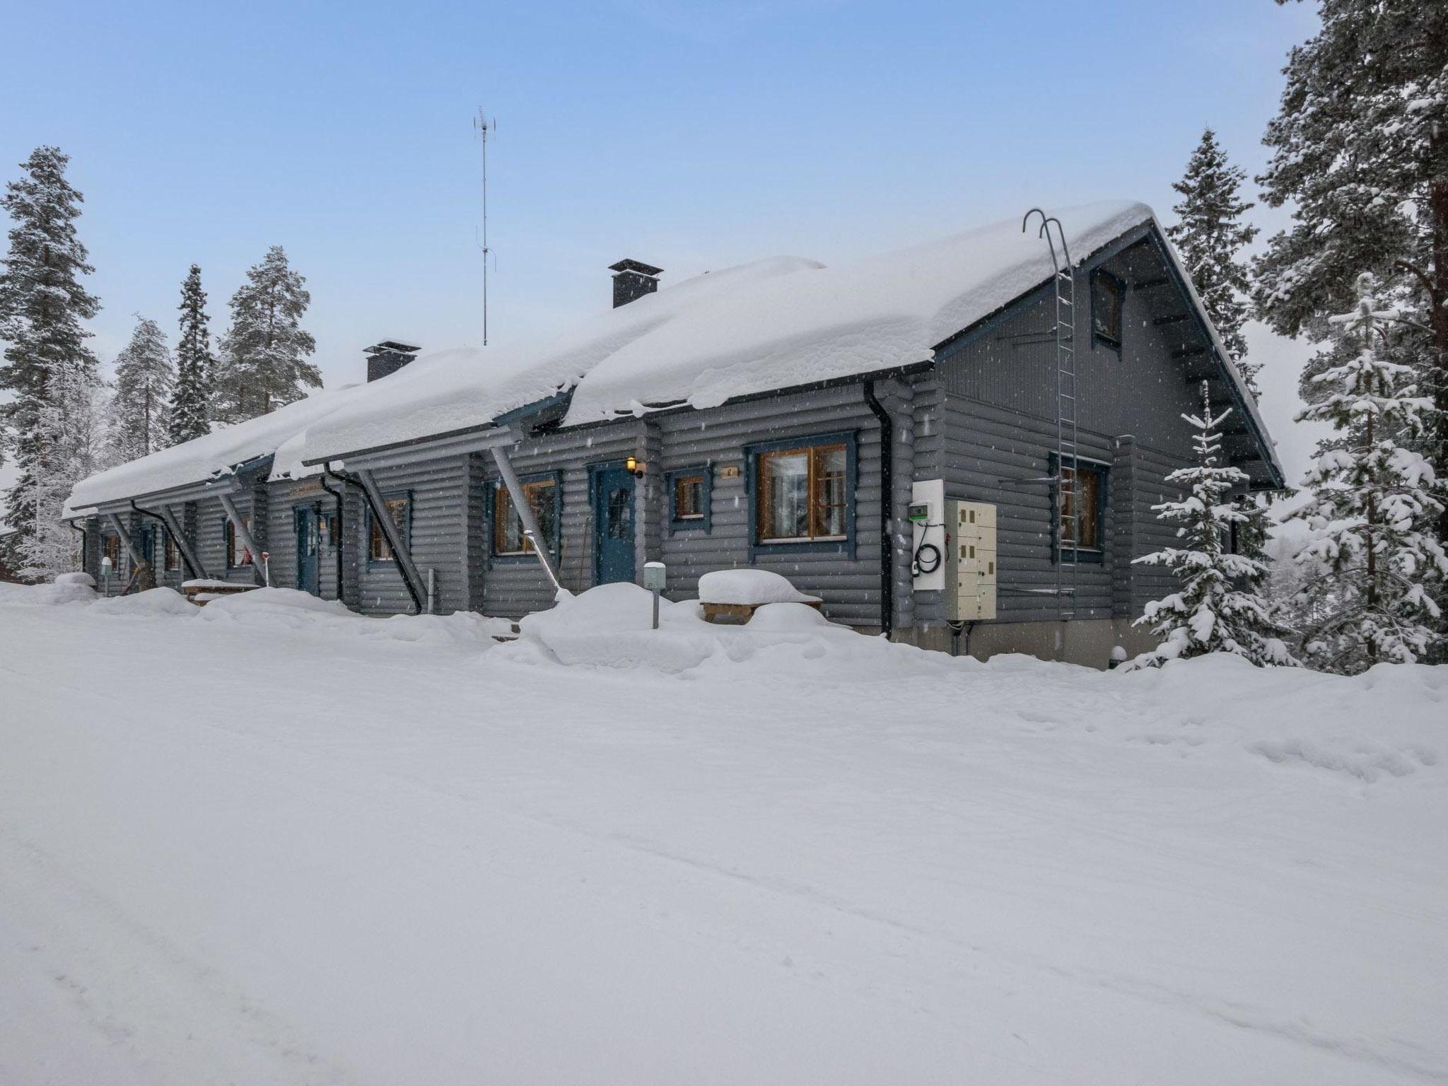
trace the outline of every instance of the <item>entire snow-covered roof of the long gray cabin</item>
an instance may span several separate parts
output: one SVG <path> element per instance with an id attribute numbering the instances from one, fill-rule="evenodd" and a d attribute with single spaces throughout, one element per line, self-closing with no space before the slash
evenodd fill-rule
<path id="1" fill-rule="evenodd" d="M 1058 217 L 1077 264 L 1156 224 L 1150 207 L 1129 201 Z M 1190 291 L 1174 251 L 1166 249 Z M 563 424 L 578 426 L 927 362 L 938 343 L 1050 275 L 1047 246 L 1015 217 L 835 268 L 773 256 L 705 272 L 591 317 L 542 348 L 433 352 L 378 381 L 319 392 L 152 453 L 78 484 L 67 508 L 195 484 L 259 456 L 274 456 L 274 478 L 301 475 L 306 463 L 482 429 L 559 392 L 571 394 Z M 1229 359 L 1211 332 L 1218 355 Z M 1251 395 L 1229 362 L 1226 371 L 1266 445 Z M 1264 455 L 1276 466 L 1270 446 Z"/>

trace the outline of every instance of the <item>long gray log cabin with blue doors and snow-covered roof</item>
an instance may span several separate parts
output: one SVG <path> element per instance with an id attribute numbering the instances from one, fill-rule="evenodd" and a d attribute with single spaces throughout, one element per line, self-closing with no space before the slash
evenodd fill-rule
<path id="1" fill-rule="evenodd" d="M 686 598 L 753 566 L 863 631 L 1105 666 L 1169 589 L 1131 559 L 1169 534 L 1151 507 L 1202 381 L 1229 460 L 1283 479 L 1151 210 L 1058 222 L 663 288 L 621 261 L 614 308 L 543 348 L 378 343 L 365 384 L 91 476 L 67 515 L 117 586 L 143 560 L 161 584 L 521 617 L 555 579 L 662 560 Z"/>

